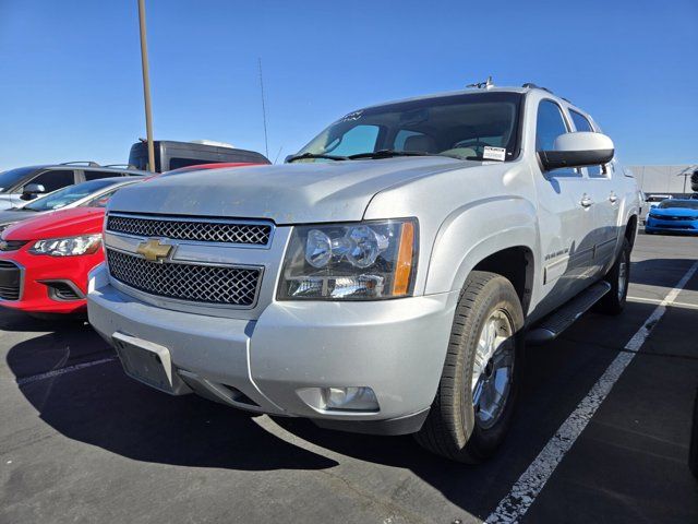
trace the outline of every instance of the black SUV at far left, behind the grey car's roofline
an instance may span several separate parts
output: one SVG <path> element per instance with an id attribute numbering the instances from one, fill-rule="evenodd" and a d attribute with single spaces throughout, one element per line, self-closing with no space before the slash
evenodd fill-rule
<path id="1" fill-rule="evenodd" d="M 74 183 L 100 178 L 143 176 L 133 166 L 100 166 L 95 162 L 67 162 L 9 169 L 0 172 L 0 210 L 8 210 Z"/>

